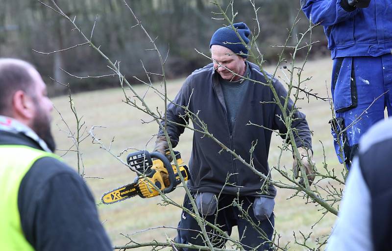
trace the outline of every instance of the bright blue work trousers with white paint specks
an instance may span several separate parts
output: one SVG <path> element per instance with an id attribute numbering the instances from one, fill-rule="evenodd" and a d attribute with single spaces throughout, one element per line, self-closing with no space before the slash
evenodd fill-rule
<path id="1" fill-rule="evenodd" d="M 334 146 L 349 167 L 361 135 L 384 119 L 385 107 L 392 115 L 392 54 L 334 59 L 331 89 Z"/>

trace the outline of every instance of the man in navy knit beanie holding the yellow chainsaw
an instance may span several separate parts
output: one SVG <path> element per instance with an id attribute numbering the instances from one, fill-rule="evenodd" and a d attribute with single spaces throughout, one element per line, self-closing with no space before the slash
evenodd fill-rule
<path id="1" fill-rule="evenodd" d="M 259 67 L 246 61 L 248 49 L 245 44 L 249 42 L 249 28 L 244 23 L 233 26 L 235 30 L 227 26 L 214 33 L 210 42 L 213 62 L 188 76 L 173 102 L 168 105 L 167 131 L 172 146 L 177 146 L 179 136 L 184 132 L 184 127 L 179 125 L 188 125 L 189 117 L 184 109 L 188 107 L 208 126 L 208 131 L 216 139 L 242 156 L 247 163 L 252 162 L 258 172 L 269 176 L 267 160 L 272 130 L 286 133 L 287 128 L 279 119 L 283 113 L 274 103 L 270 87 L 251 80 L 268 82 Z M 276 79 L 272 80 L 272 85 L 282 98 L 281 102 L 284 102 L 287 91 L 283 85 Z M 288 109 L 292 108 L 293 101 L 290 100 Z M 293 127 L 297 129 L 295 144 L 311 182 L 314 179 L 312 164 L 308 162 L 313 154 L 311 134 L 305 115 L 297 111 L 294 117 Z M 264 128 L 246 126 L 249 121 Z M 162 125 L 165 126 L 165 121 L 162 121 Z M 271 184 L 262 189 L 264 179 L 200 133 L 203 128 L 197 121 L 193 125 L 196 131 L 189 161 L 191 179 L 187 186 L 195 198 L 199 214 L 229 235 L 232 227 L 238 226 L 240 242 L 245 250 L 270 250 L 276 189 Z M 249 150 L 252 146 L 254 151 L 250 160 Z M 160 129 L 154 151 L 165 154 L 168 148 L 166 137 Z M 294 168 L 298 168 L 296 160 Z M 233 201 L 242 205 L 257 227 L 244 218 L 243 212 Z M 185 196 L 183 206 L 193 211 L 188 196 Z M 210 226 L 205 228 L 215 247 L 225 244 L 226 239 L 221 234 Z M 206 242 L 200 231 L 192 215 L 183 211 L 175 241 L 204 246 Z"/>

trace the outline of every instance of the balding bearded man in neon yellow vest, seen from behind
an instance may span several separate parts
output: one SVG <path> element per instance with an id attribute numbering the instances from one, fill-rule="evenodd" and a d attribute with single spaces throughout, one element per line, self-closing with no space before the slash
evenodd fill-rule
<path id="1" fill-rule="evenodd" d="M 53 153 L 52 109 L 31 64 L 0 58 L 0 249 L 112 250 L 85 182 Z"/>

